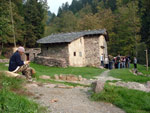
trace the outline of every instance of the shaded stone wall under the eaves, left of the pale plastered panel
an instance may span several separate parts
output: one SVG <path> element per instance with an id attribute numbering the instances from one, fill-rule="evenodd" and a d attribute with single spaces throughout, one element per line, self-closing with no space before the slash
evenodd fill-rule
<path id="1" fill-rule="evenodd" d="M 54 59 L 62 58 L 66 60 L 66 63 L 68 65 L 69 64 L 68 43 L 42 45 L 40 56 L 51 57 Z"/>

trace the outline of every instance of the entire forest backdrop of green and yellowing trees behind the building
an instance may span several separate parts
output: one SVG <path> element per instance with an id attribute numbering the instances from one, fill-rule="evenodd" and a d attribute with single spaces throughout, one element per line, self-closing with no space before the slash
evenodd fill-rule
<path id="1" fill-rule="evenodd" d="M 9 1 L 0 0 L 0 48 L 13 45 Z M 150 49 L 150 0 L 73 0 L 57 15 L 45 2 L 12 0 L 12 9 L 17 45 L 37 47 L 38 39 L 52 33 L 105 28 L 113 56 L 137 56 L 145 63 L 144 50 Z"/>

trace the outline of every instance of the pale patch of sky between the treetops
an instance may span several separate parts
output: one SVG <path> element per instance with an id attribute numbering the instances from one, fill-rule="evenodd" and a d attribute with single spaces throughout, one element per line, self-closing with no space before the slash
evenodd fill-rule
<path id="1" fill-rule="evenodd" d="M 72 0 L 47 0 L 47 2 L 48 2 L 48 6 L 50 7 L 49 10 L 52 13 L 57 14 L 58 8 L 62 5 L 62 3 L 68 2 L 70 5 Z"/>

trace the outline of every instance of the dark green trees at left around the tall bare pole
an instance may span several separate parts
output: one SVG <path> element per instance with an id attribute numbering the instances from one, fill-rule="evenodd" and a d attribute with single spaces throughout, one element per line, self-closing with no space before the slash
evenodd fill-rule
<path id="1" fill-rule="evenodd" d="M 16 44 L 36 47 L 36 40 L 44 36 L 47 18 L 46 3 L 37 0 L 0 0 L 0 48 L 2 49 L 13 45 L 11 14 Z"/>

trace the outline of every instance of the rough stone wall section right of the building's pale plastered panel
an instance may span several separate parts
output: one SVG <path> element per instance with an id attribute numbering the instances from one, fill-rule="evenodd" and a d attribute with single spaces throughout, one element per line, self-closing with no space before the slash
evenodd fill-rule
<path id="1" fill-rule="evenodd" d="M 99 36 L 86 36 L 84 38 L 85 44 L 85 63 L 87 66 L 100 66 L 99 54 Z"/>

